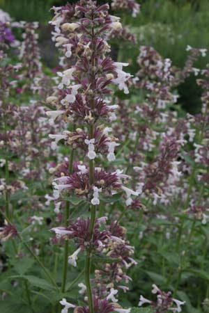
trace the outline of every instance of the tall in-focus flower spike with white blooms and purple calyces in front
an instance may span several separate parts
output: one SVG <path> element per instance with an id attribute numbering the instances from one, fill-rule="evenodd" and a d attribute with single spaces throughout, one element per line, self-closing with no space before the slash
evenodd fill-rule
<path id="1" fill-rule="evenodd" d="M 129 246 L 125 230 L 118 222 L 108 226 L 105 225 L 106 216 L 98 218 L 100 195 L 125 191 L 126 205 L 132 202 L 132 195 L 138 195 L 136 191 L 123 186 L 122 180 L 127 179 L 123 170 L 110 172 L 101 166 L 105 155 L 109 162 L 114 161 L 114 150 L 119 145 L 118 140 L 109 134 L 111 127 L 108 120 L 115 119 L 114 110 L 117 108 L 116 105 L 108 105 L 107 96 L 111 94 L 109 84 L 114 83 L 127 94 L 127 80 L 130 79 L 130 74 L 123 72 L 123 66 L 128 64 L 116 63 L 109 56 L 107 38 L 112 29 L 120 26 L 120 22 L 117 17 L 108 14 L 108 9 L 107 4 L 97 6 L 95 1 L 79 1 L 76 6 L 68 4 L 54 8 L 56 15 L 51 22 L 56 31 L 54 38 L 65 49 L 65 57 L 74 56 L 71 66 L 58 72 L 60 82 L 57 95 L 47 98 L 48 103 L 56 103 L 57 109 L 49 111 L 48 115 L 54 120 L 62 115 L 67 126 L 70 122 L 73 128 L 62 134 L 49 135 L 54 139 L 54 150 L 62 140 L 67 147 L 71 147 L 68 166 L 63 164 L 55 172 L 58 177 L 53 182 L 52 198 L 57 204 L 62 202 L 63 195 L 66 198 L 75 194 L 88 204 L 86 209 L 89 208 L 91 214 L 88 218 L 69 220 L 70 204 L 67 200 L 65 225 L 52 228 L 56 236 L 65 239 L 63 291 L 67 260 L 72 266 L 77 266 L 79 255 L 85 255 L 85 286 L 81 293 L 86 294 L 87 304 L 79 307 L 63 299 L 62 312 L 67 312 L 70 307 L 75 307 L 75 312 L 80 313 L 130 312 L 130 309 L 125 310 L 118 305 L 115 295 L 117 289 L 127 289 L 123 286 L 123 280 L 128 282 L 130 278 L 124 271 L 135 264 L 131 257 L 134 248 Z M 77 156 L 77 161 L 74 156 Z M 77 247 L 70 256 L 69 239 L 73 239 Z M 107 264 L 99 270 L 95 263 L 95 278 L 91 279 L 92 262 L 96 256 L 98 259 L 107 257 Z"/>

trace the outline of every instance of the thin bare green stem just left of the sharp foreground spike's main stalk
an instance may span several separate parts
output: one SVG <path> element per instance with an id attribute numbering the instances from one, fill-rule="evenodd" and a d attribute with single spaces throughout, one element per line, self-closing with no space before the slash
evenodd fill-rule
<path id="1" fill-rule="evenodd" d="M 69 170 L 70 173 L 72 173 L 72 163 L 73 163 L 73 150 L 71 150 L 70 153 L 70 164 L 69 164 Z M 69 223 L 69 217 L 70 217 L 70 202 L 66 201 L 65 204 L 65 226 L 68 226 Z M 68 239 L 65 239 L 65 246 L 64 246 L 64 263 L 63 263 L 63 280 L 62 280 L 62 286 L 61 291 L 65 292 L 65 286 L 67 281 L 67 269 L 68 269 Z"/>

